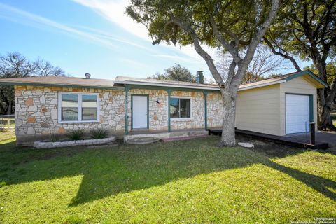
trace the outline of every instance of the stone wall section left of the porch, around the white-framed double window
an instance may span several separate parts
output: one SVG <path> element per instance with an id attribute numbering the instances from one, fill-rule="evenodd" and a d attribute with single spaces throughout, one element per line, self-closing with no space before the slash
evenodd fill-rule
<path id="1" fill-rule="evenodd" d="M 99 93 L 99 122 L 59 123 L 58 92 Z M 125 124 L 125 92 L 92 88 L 15 86 L 15 132 L 18 145 L 66 134 L 74 129 L 104 128 L 111 133 L 123 133 Z"/>

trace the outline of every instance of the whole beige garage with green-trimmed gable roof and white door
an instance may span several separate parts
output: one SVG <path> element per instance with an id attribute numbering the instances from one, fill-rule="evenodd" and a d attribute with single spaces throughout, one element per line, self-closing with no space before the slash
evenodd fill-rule
<path id="1" fill-rule="evenodd" d="M 309 132 L 310 123 L 317 124 L 317 90 L 324 87 L 328 85 L 311 71 L 241 85 L 236 127 L 279 136 Z"/>

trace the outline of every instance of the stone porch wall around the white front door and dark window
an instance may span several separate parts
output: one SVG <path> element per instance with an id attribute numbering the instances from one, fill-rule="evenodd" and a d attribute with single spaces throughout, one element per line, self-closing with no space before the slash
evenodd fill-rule
<path id="1" fill-rule="evenodd" d="M 149 130 L 168 130 L 168 93 L 166 90 L 131 89 L 128 97 L 128 130 L 132 130 L 132 94 L 149 97 Z M 204 93 L 192 91 L 172 91 L 171 97 L 186 97 L 191 100 L 191 118 L 171 119 L 171 130 L 204 128 Z M 157 103 L 159 102 L 159 104 Z M 223 100 L 221 93 L 209 92 L 207 98 L 208 128 L 221 127 L 223 120 Z"/>

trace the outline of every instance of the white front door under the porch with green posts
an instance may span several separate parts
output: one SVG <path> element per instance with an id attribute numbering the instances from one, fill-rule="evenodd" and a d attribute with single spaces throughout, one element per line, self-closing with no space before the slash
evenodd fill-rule
<path id="1" fill-rule="evenodd" d="M 133 128 L 147 127 L 147 96 L 132 96 L 132 123 Z"/>

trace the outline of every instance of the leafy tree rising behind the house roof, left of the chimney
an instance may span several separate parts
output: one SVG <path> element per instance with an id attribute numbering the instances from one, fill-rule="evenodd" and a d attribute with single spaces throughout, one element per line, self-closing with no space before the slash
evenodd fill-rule
<path id="1" fill-rule="evenodd" d="M 191 83 L 196 82 L 196 76 L 180 64 L 175 64 L 174 66 L 165 69 L 165 73 L 163 74 L 156 73 L 154 76 L 148 78 L 155 78 L 159 80 L 178 80 Z"/>

